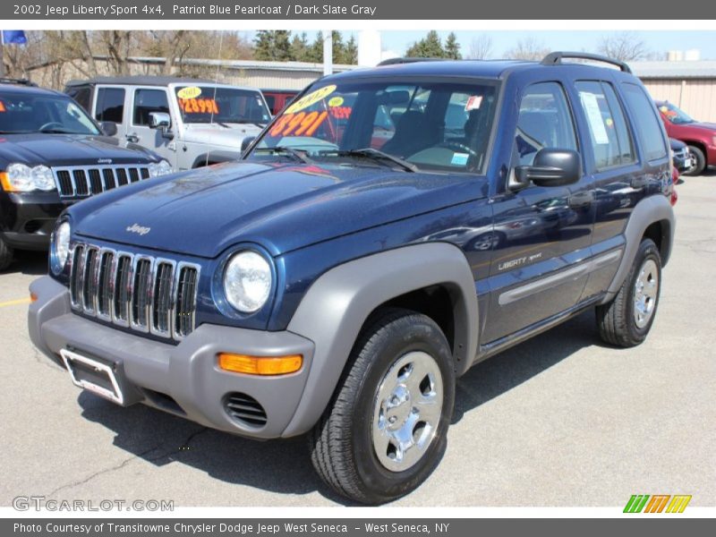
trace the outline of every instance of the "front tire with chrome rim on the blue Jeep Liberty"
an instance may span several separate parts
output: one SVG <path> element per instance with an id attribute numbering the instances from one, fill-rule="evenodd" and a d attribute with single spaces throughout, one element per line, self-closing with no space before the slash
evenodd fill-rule
<path id="1" fill-rule="evenodd" d="M 311 462 L 349 499 L 400 498 L 438 465 L 454 402 L 452 355 L 438 325 L 413 311 L 383 311 L 366 323 L 331 405 L 311 432 Z M 407 433 L 403 450 L 400 433 Z"/>

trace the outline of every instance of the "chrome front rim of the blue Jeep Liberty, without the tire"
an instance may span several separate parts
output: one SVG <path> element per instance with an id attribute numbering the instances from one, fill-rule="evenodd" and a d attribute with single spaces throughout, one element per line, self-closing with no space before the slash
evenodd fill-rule
<path id="1" fill-rule="evenodd" d="M 430 354 L 413 351 L 390 366 L 373 408 L 373 449 L 391 472 L 415 465 L 435 438 L 443 405 L 442 374 Z"/>

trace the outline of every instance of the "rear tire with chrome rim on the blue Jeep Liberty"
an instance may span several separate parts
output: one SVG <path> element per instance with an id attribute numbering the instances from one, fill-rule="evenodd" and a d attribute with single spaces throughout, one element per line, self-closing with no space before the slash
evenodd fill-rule
<path id="1" fill-rule="evenodd" d="M 617 296 L 597 306 L 601 338 L 621 347 L 641 344 L 652 328 L 660 294 L 661 255 L 651 239 L 643 239 Z"/>

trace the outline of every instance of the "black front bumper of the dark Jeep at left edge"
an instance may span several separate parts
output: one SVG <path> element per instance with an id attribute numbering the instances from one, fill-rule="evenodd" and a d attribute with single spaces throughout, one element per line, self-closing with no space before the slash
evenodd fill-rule
<path id="1" fill-rule="evenodd" d="M 65 207 L 56 192 L 0 192 L 0 234 L 12 248 L 47 250 Z"/>

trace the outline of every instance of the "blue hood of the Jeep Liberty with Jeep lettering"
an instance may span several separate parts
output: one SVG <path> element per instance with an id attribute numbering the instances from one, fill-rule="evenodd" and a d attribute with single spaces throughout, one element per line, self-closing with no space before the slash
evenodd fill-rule
<path id="1" fill-rule="evenodd" d="M 486 195 L 475 175 L 241 162 L 135 183 L 70 212 L 77 234 L 213 258 L 241 242 L 279 255 Z"/>

